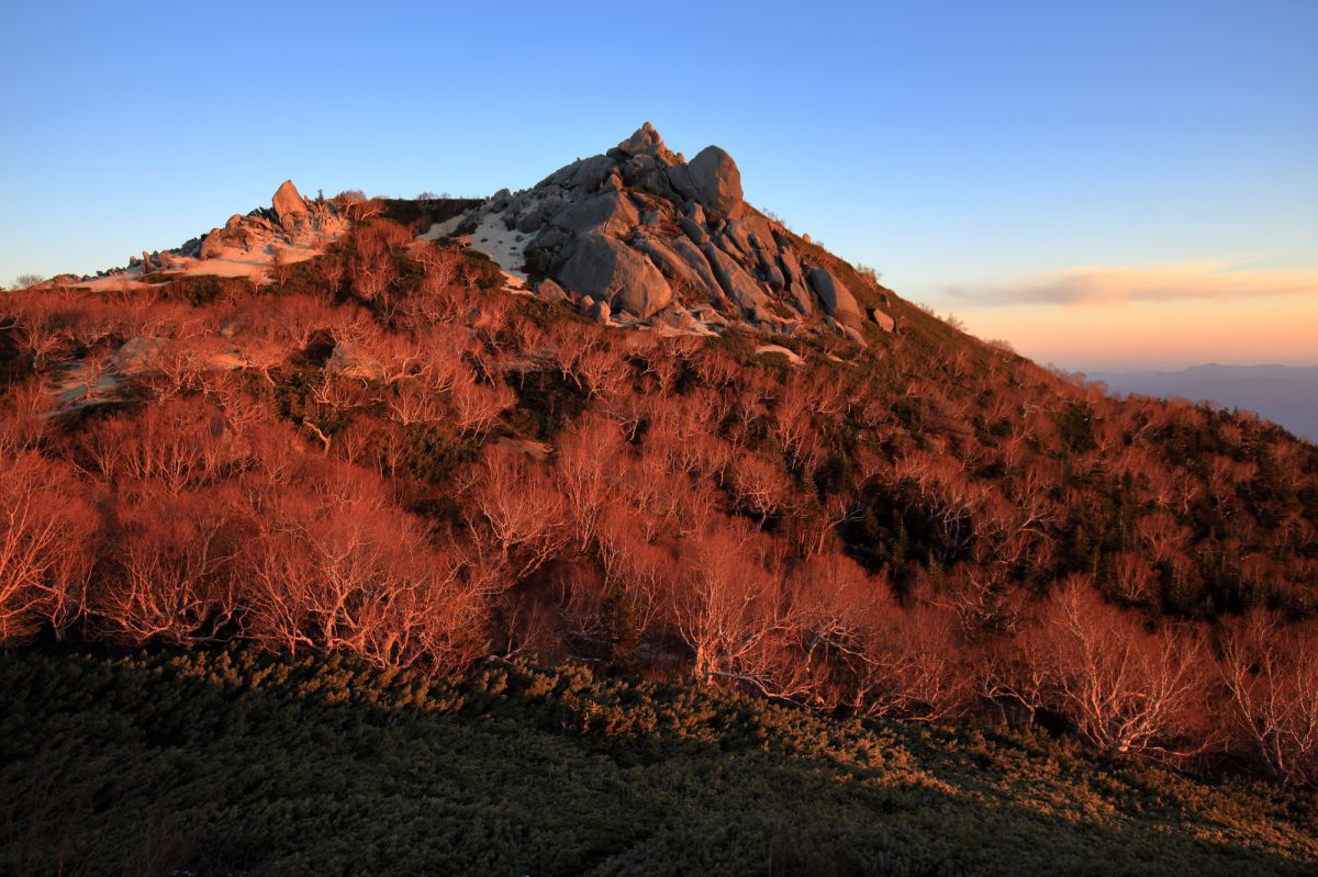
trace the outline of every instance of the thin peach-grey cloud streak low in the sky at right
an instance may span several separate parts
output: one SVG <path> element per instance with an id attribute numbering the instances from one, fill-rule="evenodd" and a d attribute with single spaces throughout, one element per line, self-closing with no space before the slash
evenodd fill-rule
<path id="1" fill-rule="evenodd" d="M 1073 269 L 1024 277 L 1015 283 L 953 286 L 967 304 L 1122 304 L 1315 295 L 1318 270 L 1260 271 L 1224 265 Z"/>

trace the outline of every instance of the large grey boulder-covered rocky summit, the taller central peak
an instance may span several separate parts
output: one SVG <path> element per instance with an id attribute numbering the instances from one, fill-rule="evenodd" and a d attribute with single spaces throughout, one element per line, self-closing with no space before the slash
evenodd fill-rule
<path id="1" fill-rule="evenodd" d="M 882 309 L 862 309 L 824 250 L 746 203 L 731 155 L 706 146 L 687 162 L 650 122 L 448 225 L 442 232 L 489 253 L 542 298 L 565 295 L 609 323 L 693 332 L 735 323 L 857 341 L 866 320 L 895 328 Z"/>

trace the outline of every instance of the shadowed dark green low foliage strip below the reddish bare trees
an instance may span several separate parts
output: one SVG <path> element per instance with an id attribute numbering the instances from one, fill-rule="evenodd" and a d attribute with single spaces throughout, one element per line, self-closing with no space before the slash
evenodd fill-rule
<path id="1" fill-rule="evenodd" d="M 1304 874 L 1314 799 L 490 662 L 0 656 L 0 872 Z"/>

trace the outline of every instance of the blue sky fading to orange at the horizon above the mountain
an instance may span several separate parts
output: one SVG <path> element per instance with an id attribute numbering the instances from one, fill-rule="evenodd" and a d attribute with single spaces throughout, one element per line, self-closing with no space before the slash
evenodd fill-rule
<path id="1" fill-rule="evenodd" d="M 119 8 L 113 8 L 119 7 Z M 269 201 L 486 195 L 652 121 L 1070 369 L 1318 362 L 1318 1 L 7 7 L 0 283 Z"/>

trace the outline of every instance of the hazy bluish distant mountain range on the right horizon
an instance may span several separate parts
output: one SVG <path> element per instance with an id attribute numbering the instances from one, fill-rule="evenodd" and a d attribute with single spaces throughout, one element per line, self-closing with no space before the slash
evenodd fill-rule
<path id="1" fill-rule="evenodd" d="M 1184 371 L 1095 371 L 1112 392 L 1141 392 L 1214 402 L 1257 412 L 1290 432 L 1318 441 L 1318 366 L 1193 366 Z"/>

